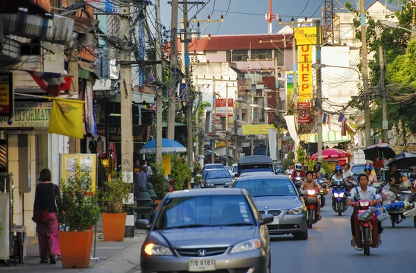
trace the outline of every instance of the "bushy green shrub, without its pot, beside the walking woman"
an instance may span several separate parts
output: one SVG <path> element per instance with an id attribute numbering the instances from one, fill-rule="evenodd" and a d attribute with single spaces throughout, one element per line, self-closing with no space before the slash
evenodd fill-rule
<path id="1" fill-rule="evenodd" d="M 80 168 L 66 182 L 62 179 L 56 201 L 60 225 L 69 231 L 85 231 L 98 222 L 100 208 L 92 189 L 91 173 L 83 172 Z"/>

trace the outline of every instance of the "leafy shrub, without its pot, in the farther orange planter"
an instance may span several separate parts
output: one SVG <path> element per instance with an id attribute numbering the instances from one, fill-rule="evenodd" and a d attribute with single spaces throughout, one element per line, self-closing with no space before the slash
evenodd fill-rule
<path id="1" fill-rule="evenodd" d="M 126 177 L 130 179 L 130 177 Z M 105 213 L 123 213 L 130 198 L 132 184 L 123 179 L 123 173 L 112 173 L 112 178 L 103 182 L 103 189 L 100 191 L 100 208 Z"/>

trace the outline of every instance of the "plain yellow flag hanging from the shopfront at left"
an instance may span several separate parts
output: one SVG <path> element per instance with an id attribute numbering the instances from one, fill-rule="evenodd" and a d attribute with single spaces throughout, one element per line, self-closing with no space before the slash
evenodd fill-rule
<path id="1" fill-rule="evenodd" d="M 83 100 L 53 100 L 51 118 L 49 118 L 49 132 L 72 136 L 78 139 L 84 138 L 84 113 Z"/>

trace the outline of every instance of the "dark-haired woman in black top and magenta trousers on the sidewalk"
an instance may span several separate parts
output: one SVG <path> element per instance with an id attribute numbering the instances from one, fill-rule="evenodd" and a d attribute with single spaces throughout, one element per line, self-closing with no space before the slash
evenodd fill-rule
<path id="1" fill-rule="evenodd" d="M 39 241 L 40 263 L 56 263 L 56 255 L 60 256 L 58 238 L 58 218 L 56 212 L 56 197 L 59 195 L 59 186 L 51 182 L 51 170 L 40 171 L 36 186 L 35 204 L 33 205 L 33 221 L 37 224 L 37 240 Z"/>

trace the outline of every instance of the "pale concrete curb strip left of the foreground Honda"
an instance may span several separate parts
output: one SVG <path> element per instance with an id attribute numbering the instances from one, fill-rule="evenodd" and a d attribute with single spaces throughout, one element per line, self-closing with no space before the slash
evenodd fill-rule
<path id="1" fill-rule="evenodd" d="M 107 258 L 105 261 L 98 263 L 83 272 L 89 273 L 123 273 L 133 270 L 140 265 L 141 245 L 143 245 L 146 234 L 136 234 L 132 240 L 137 241 L 135 245 L 123 249 L 118 254 Z M 93 263 L 93 262 L 92 262 Z"/>

